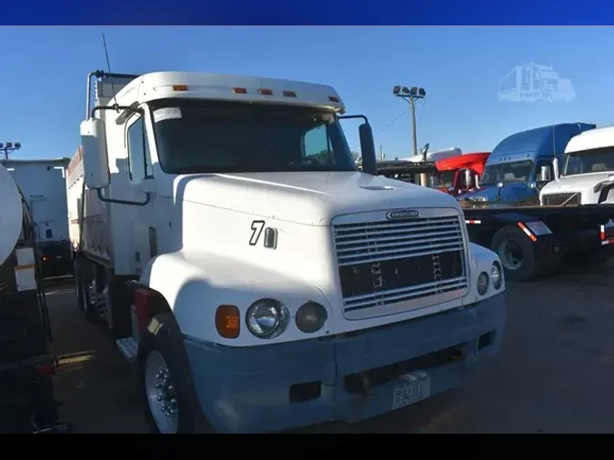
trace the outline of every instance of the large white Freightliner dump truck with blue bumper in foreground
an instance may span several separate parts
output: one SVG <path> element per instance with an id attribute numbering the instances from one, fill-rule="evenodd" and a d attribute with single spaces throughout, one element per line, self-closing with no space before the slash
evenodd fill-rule
<path id="1" fill-rule="evenodd" d="M 452 196 L 375 175 L 363 116 L 357 171 L 332 87 L 97 71 L 87 95 L 77 296 L 136 362 L 152 432 L 355 422 L 498 352 L 497 255 Z"/>

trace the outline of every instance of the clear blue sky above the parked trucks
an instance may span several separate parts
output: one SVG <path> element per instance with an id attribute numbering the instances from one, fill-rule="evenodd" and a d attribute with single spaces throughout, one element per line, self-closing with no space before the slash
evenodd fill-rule
<path id="1" fill-rule="evenodd" d="M 72 156 L 85 115 L 86 75 L 206 71 L 333 85 L 348 114 L 367 115 L 387 157 L 412 151 L 408 104 L 417 85 L 418 145 L 491 150 L 505 136 L 559 122 L 614 124 L 610 27 L 3 27 L 0 142 L 12 157 Z M 605 53 L 604 53 L 605 52 Z M 501 102 L 498 82 L 533 60 L 569 78 L 572 102 Z M 357 147 L 356 125 L 344 126 Z"/>

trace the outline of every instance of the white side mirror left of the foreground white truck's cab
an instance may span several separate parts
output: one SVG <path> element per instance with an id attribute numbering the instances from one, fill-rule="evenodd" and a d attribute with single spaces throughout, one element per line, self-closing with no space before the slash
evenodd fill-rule
<path id="1" fill-rule="evenodd" d="M 111 183 L 106 153 L 105 122 L 90 118 L 81 122 L 81 155 L 87 188 L 106 188 Z"/>

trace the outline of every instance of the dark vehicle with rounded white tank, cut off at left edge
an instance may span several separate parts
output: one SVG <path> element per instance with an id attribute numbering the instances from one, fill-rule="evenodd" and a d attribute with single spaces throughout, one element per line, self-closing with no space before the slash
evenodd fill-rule
<path id="1" fill-rule="evenodd" d="M 35 222 L 0 165 L 0 433 L 62 432 Z"/>

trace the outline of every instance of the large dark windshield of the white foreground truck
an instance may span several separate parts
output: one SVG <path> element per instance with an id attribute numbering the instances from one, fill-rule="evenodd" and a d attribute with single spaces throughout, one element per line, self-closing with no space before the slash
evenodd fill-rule
<path id="1" fill-rule="evenodd" d="M 168 174 L 357 169 L 338 121 L 321 109 L 166 99 L 150 110 Z"/>

